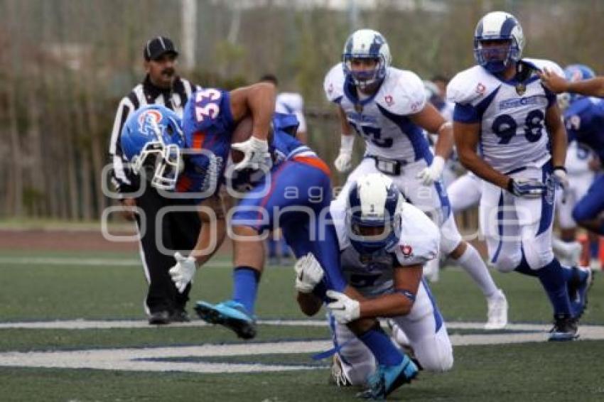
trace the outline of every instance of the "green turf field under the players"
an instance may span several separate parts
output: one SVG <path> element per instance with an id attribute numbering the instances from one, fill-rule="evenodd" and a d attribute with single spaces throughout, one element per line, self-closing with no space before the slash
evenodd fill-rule
<path id="1" fill-rule="evenodd" d="M 43 261 L 47 261 L 44 263 Z M 82 261 L 80 264 L 79 261 Z M 32 251 L 0 255 L 0 325 L 23 321 L 143 320 L 146 285 L 129 254 L 61 254 Z M 192 299 L 220 301 L 230 295 L 231 271 L 203 268 Z M 494 273 L 505 290 L 514 323 L 548 323 L 549 305 L 534 278 Z M 432 286 L 443 316 L 454 322 L 485 320 L 485 301 L 469 277 L 446 269 Z M 257 314 L 261 320 L 303 320 L 293 300 L 293 270 L 268 269 L 262 278 Z M 323 317 L 320 313 L 316 319 Z M 604 325 L 604 278 L 596 276 L 583 322 Z M 451 335 L 482 330 L 449 331 Z M 522 331 L 506 330 L 517 334 Z M 530 331 L 529 331 L 530 332 Z M 545 335 L 543 335 L 545 338 Z M 326 327 L 260 325 L 255 343 L 328 339 Z M 117 327 L 112 329 L 31 329 L 0 327 L 0 354 L 105 348 L 179 347 L 207 344 L 250 345 L 220 327 Z M 0 366 L 0 401 L 348 401 L 355 389 L 328 384 L 328 362 L 312 353 L 162 357 L 149 363 L 227 363 L 300 366 L 279 372 L 207 374 L 186 371 L 118 371 Z M 604 340 L 551 344 L 458 346 L 455 366 L 446 374 L 421 373 L 393 400 L 406 401 L 603 401 Z M 21 359 L 28 355 L 23 354 Z"/>

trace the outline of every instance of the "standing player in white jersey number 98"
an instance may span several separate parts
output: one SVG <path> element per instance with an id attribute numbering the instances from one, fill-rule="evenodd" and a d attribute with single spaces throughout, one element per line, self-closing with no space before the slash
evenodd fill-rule
<path id="1" fill-rule="evenodd" d="M 523 47 L 522 27 L 511 14 L 480 19 L 477 65 L 447 87 L 455 102 L 455 145 L 463 165 L 483 179 L 480 226 L 490 263 L 539 278 L 554 308 L 549 339 L 571 340 L 589 272 L 561 266 L 551 249 L 555 187 L 567 184 L 566 131 L 555 94 L 536 74 L 544 67 L 562 71 L 548 60 L 522 59 Z"/>

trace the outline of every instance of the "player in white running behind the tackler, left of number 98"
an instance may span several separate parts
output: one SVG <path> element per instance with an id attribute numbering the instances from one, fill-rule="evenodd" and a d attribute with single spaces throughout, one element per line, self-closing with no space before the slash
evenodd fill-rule
<path id="1" fill-rule="evenodd" d="M 478 251 L 461 238 L 440 180 L 445 158 L 453 147 L 451 123 L 426 102 L 424 84 L 414 72 L 391 67 L 390 63 L 384 36 L 361 29 L 346 40 L 342 63 L 325 77 L 325 94 L 338 106 L 342 130 L 335 168 L 340 172 L 352 168 L 353 131 L 362 136 L 367 146 L 362 162 L 348 176 L 341 194 L 347 194 L 361 175 L 389 175 L 412 204 L 435 220 L 441 228 L 441 251 L 470 274 L 487 298 L 485 327 L 505 327 L 505 295 L 495 286 Z M 436 156 L 428 147 L 424 129 L 438 134 Z M 431 264 L 435 267 L 430 267 L 430 271 L 438 269 L 438 261 L 426 265 Z"/>

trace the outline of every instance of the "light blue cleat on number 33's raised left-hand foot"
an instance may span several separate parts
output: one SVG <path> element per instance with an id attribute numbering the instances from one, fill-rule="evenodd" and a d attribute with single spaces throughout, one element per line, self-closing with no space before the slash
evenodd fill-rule
<path id="1" fill-rule="evenodd" d="M 256 336 L 256 318 L 249 315 L 244 306 L 234 300 L 217 305 L 200 300 L 195 303 L 195 312 L 205 322 L 224 325 L 240 338 L 252 339 Z"/>

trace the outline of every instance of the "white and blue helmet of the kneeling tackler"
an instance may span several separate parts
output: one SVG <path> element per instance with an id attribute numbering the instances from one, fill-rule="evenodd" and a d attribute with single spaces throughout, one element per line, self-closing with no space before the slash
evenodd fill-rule
<path id="1" fill-rule="evenodd" d="M 397 186 L 380 173 L 363 175 L 352 184 L 346 224 L 350 243 L 360 254 L 389 250 L 398 244 L 403 202 Z"/>

